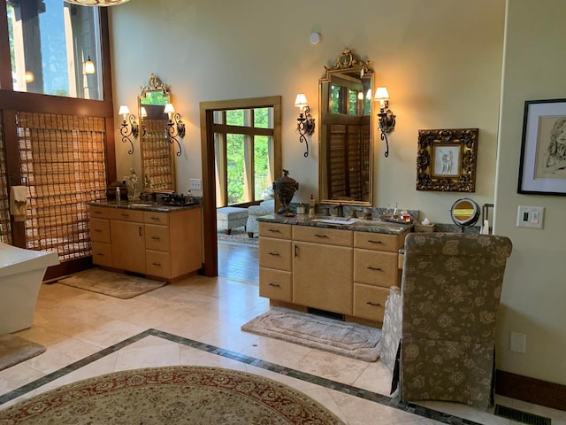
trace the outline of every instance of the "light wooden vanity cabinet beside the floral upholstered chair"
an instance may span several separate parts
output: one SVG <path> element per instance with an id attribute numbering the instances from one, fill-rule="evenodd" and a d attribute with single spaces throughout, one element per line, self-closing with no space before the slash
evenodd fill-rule
<path id="1" fill-rule="evenodd" d="M 259 295 L 379 326 L 399 286 L 407 232 L 388 235 L 261 221 Z"/>

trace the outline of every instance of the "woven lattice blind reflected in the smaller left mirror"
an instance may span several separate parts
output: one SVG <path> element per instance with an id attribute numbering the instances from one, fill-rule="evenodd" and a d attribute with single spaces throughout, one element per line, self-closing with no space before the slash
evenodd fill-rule
<path id="1" fill-rule="evenodd" d="M 151 180 L 151 189 L 172 190 L 175 175 L 172 144 L 169 143 L 166 120 L 143 120 L 143 178 Z"/>

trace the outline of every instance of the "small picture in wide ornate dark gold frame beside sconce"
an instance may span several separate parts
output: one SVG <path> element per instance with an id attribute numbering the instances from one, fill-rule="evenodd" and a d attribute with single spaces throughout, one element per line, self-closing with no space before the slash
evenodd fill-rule
<path id="1" fill-rule="evenodd" d="M 418 130 L 417 190 L 475 192 L 478 128 Z"/>

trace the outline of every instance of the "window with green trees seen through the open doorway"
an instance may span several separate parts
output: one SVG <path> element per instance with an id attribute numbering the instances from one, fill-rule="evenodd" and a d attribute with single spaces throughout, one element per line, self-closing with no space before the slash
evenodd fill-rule
<path id="1" fill-rule="evenodd" d="M 273 181 L 273 108 L 214 113 L 217 205 L 264 198 Z"/>

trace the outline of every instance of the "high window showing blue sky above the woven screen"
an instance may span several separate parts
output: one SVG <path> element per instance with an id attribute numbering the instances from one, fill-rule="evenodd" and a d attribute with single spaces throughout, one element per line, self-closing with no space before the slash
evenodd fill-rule
<path id="1" fill-rule="evenodd" d="M 6 5 L 15 91 L 102 100 L 98 8 L 63 0 L 7 0 Z M 85 69 L 88 60 L 94 73 Z"/>

